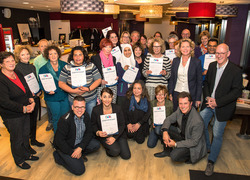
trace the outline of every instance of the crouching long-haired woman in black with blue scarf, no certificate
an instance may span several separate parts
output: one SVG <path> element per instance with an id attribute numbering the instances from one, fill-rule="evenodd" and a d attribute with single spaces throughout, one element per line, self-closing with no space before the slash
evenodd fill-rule
<path id="1" fill-rule="evenodd" d="M 149 133 L 149 117 L 151 107 L 147 89 L 142 80 L 136 80 L 126 93 L 127 99 L 123 106 L 127 137 L 133 138 L 138 144 L 145 141 Z"/>

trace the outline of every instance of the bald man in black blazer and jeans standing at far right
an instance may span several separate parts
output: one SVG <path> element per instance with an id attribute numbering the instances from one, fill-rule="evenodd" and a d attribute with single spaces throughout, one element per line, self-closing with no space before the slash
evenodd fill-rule
<path id="1" fill-rule="evenodd" d="M 217 46 L 216 61 L 209 65 L 204 81 L 204 103 L 200 114 L 205 124 L 207 150 L 210 152 L 205 170 L 207 176 L 213 174 L 214 163 L 222 145 L 224 129 L 227 121 L 232 118 L 236 108 L 236 100 L 241 95 L 241 70 L 228 60 L 230 53 L 228 45 L 222 43 Z M 212 143 L 210 143 L 208 124 L 213 116 L 213 138 Z"/>

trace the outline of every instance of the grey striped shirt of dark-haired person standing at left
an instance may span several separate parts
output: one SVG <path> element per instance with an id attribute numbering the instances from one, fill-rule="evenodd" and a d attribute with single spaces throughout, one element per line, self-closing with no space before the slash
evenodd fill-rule
<path id="1" fill-rule="evenodd" d="M 68 86 L 72 87 L 71 68 L 75 68 L 75 67 L 79 67 L 79 66 L 75 66 L 73 61 L 71 61 L 70 64 L 65 65 L 61 71 L 59 81 L 62 81 L 66 83 Z M 91 84 L 93 84 L 96 80 L 101 79 L 101 75 L 93 63 L 91 62 L 89 64 L 84 63 L 80 67 L 85 67 L 85 70 L 86 70 L 86 80 L 87 80 L 87 84 L 85 85 L 86 87 L 91 86 Z M 73 101 L 74 97 L 77 95 L 78 94 L 74 94 L 74 93 L 69 94 L 69 98 Z M 85 98 L 86 102 L 93 100 L 94 98 L 96 98 L 96 89 L 90 92 L 83 93 L 82 97 Z"/>

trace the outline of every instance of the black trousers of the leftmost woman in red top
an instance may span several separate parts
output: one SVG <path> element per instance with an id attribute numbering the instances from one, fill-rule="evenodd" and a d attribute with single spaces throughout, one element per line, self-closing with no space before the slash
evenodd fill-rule
<path id="1" fill-rule="evenodd" d="M 30 156 L 29 133 L 30 116 L 22 115 L 18 118 L 4 119 L 10 133 L 11 152 L 16 164 L 21 164 Z"/>

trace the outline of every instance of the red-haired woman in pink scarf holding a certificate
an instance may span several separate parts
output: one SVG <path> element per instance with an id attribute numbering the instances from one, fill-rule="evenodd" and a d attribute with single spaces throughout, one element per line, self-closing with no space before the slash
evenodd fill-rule
<path id="1" fill-rule="evenodd" d="M 114 96 L 113 96 L 113 103 L 116 103 L 117 97 L 117 80 L 118 76 L 116 74 L 116 58 L 112 56 L 111 50 L 113 48 L 113 44 L 109 39 L 103 38 L 100 42 L 100 49 L 101 52 L 96 56 L 91 57 L 91 62 L 95 64 L 97 69 L 99 70 L 102 81 L 101 85 L 97 88 L 97 101 L 100 103 L 100 94 L 101 90 L 107 86 L 109 87 Z"/>

